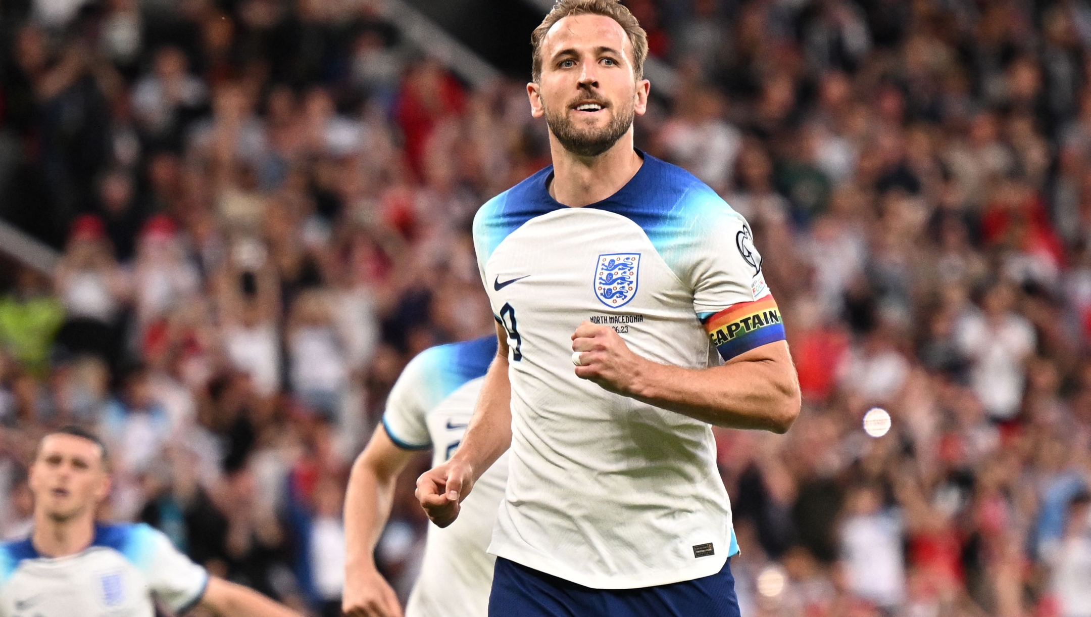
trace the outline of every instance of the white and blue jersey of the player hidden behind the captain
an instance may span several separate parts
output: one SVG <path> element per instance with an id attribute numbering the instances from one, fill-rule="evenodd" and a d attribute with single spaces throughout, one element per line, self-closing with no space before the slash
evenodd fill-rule
<path id="1" fill-rule="evenodd" d="M 386 434 L 405 449 L 432 449 L 432 466 L 461 442 L 496 337 L 440 345 L 420 353 L 398 378 L 383 413 Z M 504 497 L 507 455 L 489 468 L 445 529 L 429 525 L 420 577 L 406 617 L 484 617 L 494 557 L 485 553 Z"/>

